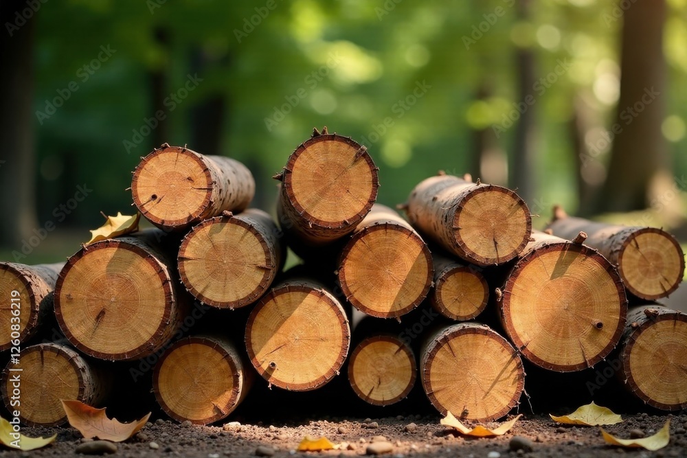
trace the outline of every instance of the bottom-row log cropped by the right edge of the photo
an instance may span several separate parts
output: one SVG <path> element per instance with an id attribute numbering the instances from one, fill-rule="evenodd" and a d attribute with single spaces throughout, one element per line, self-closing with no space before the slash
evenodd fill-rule
<path id="1" fill-rule="evenodd" d="M 687 314 L 654 304 L 632 308 L 620 346 L 629 391 L 656 409 L 687 408 Z"/>

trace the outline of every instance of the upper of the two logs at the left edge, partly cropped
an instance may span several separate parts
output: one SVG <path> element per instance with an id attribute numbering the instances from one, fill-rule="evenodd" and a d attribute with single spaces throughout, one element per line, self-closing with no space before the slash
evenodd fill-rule
<path id="1" fill-rule="evenodd" d="M 0 352 L 12 347 L 13 340 L 28 341 L 50 321 L 55 282 L 64 265 L 0 262 L 0 297 L 6 304 L 0 307 Z"/>

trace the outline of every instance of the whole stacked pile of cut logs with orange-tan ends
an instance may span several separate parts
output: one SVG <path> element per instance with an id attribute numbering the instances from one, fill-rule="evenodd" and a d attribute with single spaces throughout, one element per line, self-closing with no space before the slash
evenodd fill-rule
<path id="1" fill-rule="evenodd" d="M 687 407 L 687 314 L 651 302 L 684 274 L 665 231 L 561 209 L 532 231 L 513 190 L 444 173 L 416 185 L 405 220 L 376 203 L 366 148 L 326 128 L 274 178 L 276 220 L 249 208 L 245 165 L 165 144 L 131 185 L 156 228 L 65 264 L 0 262 L 5 405 L 21 369 L 21 420 L 63 424 L 60 399 L 107 405 L 109 362 L 141 360 L 180 422 L 224 420 L 256 384 L 310 391 L 337 376 L 361 409 L 417 386 L 442 414 L 488 421 L 517 408 L 527 364 L 578 372 L 615 351 L 628 396 Z M 287 247 L 304 265 L 283 272 Z M 65 341 L 50 342 L 53 321 Z"/>

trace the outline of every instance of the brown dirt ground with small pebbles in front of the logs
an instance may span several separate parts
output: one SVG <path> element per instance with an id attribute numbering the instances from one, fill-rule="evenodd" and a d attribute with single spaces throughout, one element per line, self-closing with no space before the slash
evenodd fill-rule
<path id="1" fill-rule="evenodd" d="M 510 417 L 508 417 L 510 418 Z M 562 427 L 548 417 L 525 415 L 510 433 L 493 439 L 466 439 L 451 433 L 439 424 L 438 415 L 409 415 L 372 419 L 303 420 L 274 424 L 225 424 L 192 426 L 168 420 L 149 422 L 139 435 L 117 445 L 116 457 L 251 457 L 293 455 L 355 456 L 365 455 L 373 441 L 390 442 L 390 457 L 618 457 L 626 453 L 633 457 L 687 456 L 687 415 L 624 415 L 624 422 L 608 426 L 607 431 L 620 437 L 630 437 L 631 430 L 651 435 L 671 419 L 671 443 L 662 450 L 622 449 L 605 445 L 599 429 L 583 426 Z M 506 419 L 504 419 L 506 420 Z M 414 426 L 408 426 L 414 424 Z M 375 426 L 376 425 L 376 426 Z M 64 428 L 23 428 L 27 435 L 58 434 L 57 441 L 42 450 L 32 452 L 2 451 L 0 456 L 54 457 L 76 455 L 82 444 L 78 431 Z M 306 436 L 326 436 L 341 450 L 326 452 L 296 452 Z M 532 442 L 532 451 L 510 450 L 510 440 L 519 435 Z M 381 436 L 381 437 L 379 437 Z M 383 438 L 382 438 L 383 437 Z M 346 446 L 346 444 L 350 444 Z M 260 450 L 258 450 L 260 448 Z M 262 455 L 260 455 L 262 453 Z M 273 455 L 269 455 L 272 453 Z M 81 455 L 78 455 L 81 456 Z"/>

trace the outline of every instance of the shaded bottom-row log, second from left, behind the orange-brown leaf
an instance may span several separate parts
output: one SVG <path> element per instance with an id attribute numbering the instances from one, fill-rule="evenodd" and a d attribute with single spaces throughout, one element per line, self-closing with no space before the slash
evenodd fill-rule
<path id="1" fill-rule="evenodd" d="M 153 371 L 155 398 L 179 422 L 210 424 L 226 418 L 247 395 L 252 369 L 238 347 L 218 336 L 177 341 Z"/>

